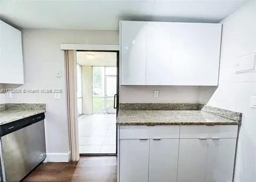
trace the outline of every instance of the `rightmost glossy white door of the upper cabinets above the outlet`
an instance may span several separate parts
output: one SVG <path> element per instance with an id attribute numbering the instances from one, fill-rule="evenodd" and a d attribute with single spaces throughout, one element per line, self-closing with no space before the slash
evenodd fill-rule
<path id="1" fill-rule="evenodd" d="M 173 23 L 172 85 L 218 85 L 221 24 Z"/>

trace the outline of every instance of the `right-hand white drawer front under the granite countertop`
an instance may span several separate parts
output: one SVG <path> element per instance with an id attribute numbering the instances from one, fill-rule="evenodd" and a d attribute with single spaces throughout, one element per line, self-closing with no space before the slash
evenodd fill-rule
<path id="1" fill-rule="evenodd" d="M 180 126 L 180 138 L 237 138 L 238 125 Z"/>

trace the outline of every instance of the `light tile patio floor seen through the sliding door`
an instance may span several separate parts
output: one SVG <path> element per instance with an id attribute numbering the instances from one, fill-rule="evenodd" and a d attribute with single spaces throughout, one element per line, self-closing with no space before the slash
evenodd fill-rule
<path id="1" fill-rule="evenodd" d="M 116 115 L 78 117 L 80 153 L 116 153 Z"/>

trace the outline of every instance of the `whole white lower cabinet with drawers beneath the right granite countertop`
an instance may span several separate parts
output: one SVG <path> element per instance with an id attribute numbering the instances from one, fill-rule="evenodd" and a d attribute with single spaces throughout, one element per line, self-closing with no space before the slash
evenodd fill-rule
<path id="1" fill-rule="evenodd" d="M 118 129 L 119 182 L 232 182 L 238 126 Z"/>

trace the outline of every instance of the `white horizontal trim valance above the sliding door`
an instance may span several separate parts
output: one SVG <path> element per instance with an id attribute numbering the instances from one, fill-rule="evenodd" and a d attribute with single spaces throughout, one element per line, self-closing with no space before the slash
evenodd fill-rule
<path id="1" fill-rule="evenodd" d="M 119 45 L 61 44 L 61 50 L 119 50 Z"/>

